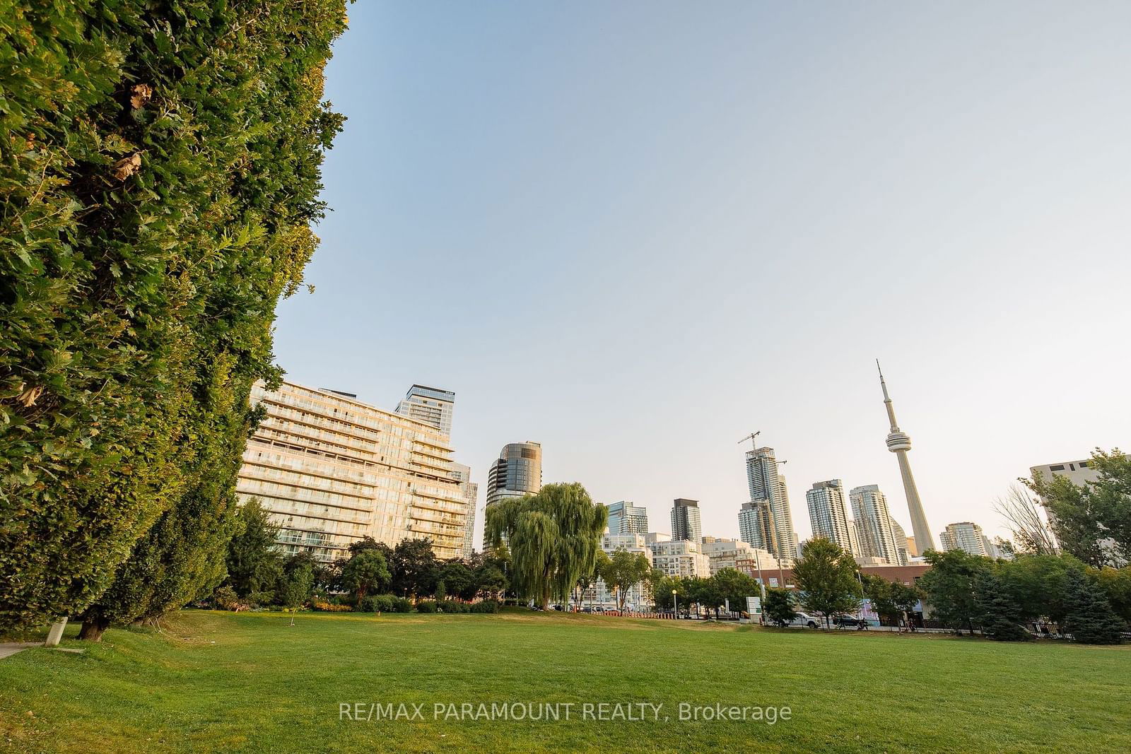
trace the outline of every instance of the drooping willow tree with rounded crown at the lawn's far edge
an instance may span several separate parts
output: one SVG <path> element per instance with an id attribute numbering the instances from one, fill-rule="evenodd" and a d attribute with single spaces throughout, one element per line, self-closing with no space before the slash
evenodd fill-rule
<path id="1" fill-rule="evenodd" d="M 545 609 L 551 599 L 566 601 L 593 571 L 607 523 L 608 509 L 580 484 L 547 484 L 487 508 L 486 536 L 495 547 L 508 543 L 515 592 Z"/>

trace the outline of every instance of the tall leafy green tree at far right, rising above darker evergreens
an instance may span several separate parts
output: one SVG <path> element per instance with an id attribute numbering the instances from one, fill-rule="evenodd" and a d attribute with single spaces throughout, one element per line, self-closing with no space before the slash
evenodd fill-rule
<path id="1" fill-rule="evenodd" d="M 1045 501 L 1064 552 L 1094 567 L 1122 565 L 1131 560 L 1131 457 L 1097 449 L 1089 463 L 1099 478 L 1082 486 L 1060 475 L 1024 482 Z"/>

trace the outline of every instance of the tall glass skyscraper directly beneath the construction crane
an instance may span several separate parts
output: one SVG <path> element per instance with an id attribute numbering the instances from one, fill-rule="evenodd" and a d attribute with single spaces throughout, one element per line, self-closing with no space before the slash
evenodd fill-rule
<path id="1" fill-rule="evenodd" d="M 796 557 L 797 536 L 793 532 L 789 494 L 772 448 L 746 451 L 746 483 L 750 486 L 750 503 L 739 511 L 740 536 L 778 557 Z M 744 519 L 748 528 L 757 525 L 761 531 L 741 531 Z"/>

